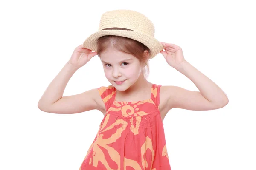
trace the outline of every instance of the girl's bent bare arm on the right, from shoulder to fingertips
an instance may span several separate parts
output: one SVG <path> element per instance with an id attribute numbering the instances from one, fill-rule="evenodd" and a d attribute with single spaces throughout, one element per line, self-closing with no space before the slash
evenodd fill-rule
<path id="1" fill-rule="evenodd" d="M 189 91 L 177 86 L 169 86 L 169 109 L 213 110 L 222 108 L 229 102 L 227 95 L 211 79 L 198 71 L 183 57 L 182 49 L 175 44 L 162 42 L 165 51 L 160 51 L 167 63 L 188 77 L 199 91 Z"/>

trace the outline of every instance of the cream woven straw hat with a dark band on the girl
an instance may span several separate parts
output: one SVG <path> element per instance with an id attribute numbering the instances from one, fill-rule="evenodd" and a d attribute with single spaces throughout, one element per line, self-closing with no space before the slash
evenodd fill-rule
<path id="1" fill-rule="evenodd" d="M 83 47 L 97 51 L 97 40 L 105 35 L 117 35 L 137 40 L 146 45 L 155 57 L 163 45 L 154 38 L 154 24 L 145 15 L 131 10 L 113 10 L 102 14 L 99 30 L 84 41 Z"/>

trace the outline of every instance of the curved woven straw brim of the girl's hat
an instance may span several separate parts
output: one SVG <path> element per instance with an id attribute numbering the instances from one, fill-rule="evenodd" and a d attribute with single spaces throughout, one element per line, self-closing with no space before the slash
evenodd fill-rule
<path id="1" fill-rule="evenodd" d="M 105 36 L 105 35 L 117 35 L 121 37 L 127 37 L 131 38 L 133 40 L 137 40 L 144 45 L 146 45 L 150 51 L 151 55 L 149 58 L 155 57 L 160 51 L 163 50 L 163 45 L 161 42 L 159 42 L 156 38 L 152 36 L 148 36 L 143 33 L 139 33 L 136 31 L 130 31 L 130 30 L 102 30 L 98 31 L 96 33 L 93 33 L 83 43 L 83 47 L 90 49 L 92 51 L 97 51 L 97 40 L 99 37 Z"/>

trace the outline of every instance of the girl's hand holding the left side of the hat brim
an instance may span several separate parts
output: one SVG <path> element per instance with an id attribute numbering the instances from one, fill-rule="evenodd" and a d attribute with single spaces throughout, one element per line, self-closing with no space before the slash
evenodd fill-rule
<path id="1" fill-rule="evenodd" d="M 79 45 L 75 48 L 68 62 L 76 68 L 80 68 L 89 62 L 95 55 L 97 55 L 97 52 L 92 52 L 92 50 L 84 48 L 83 45 Z"/>

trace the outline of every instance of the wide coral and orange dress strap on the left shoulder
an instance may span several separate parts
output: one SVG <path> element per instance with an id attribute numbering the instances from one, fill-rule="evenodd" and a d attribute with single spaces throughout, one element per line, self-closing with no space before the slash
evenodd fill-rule
<path id="1" fill-rule="evenodd" d="M 106 111 L 111 107 L 114 102 L 116 91 L 114 90 L 113 85 L 109 85 L 108 87 L 102 86 L 98 88 L 99 95 L 102 98 Z"/>

